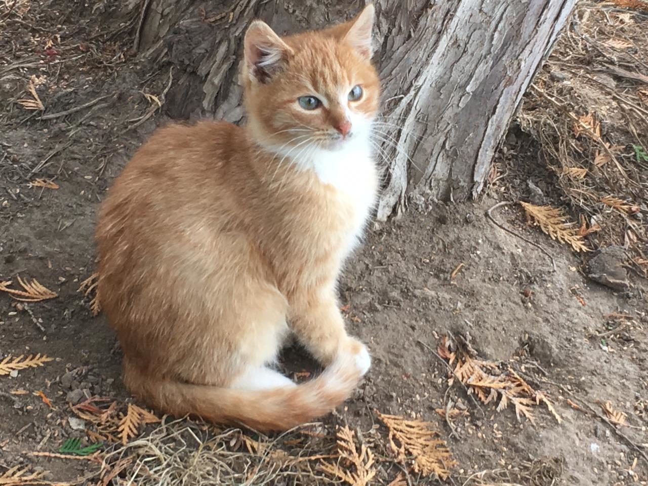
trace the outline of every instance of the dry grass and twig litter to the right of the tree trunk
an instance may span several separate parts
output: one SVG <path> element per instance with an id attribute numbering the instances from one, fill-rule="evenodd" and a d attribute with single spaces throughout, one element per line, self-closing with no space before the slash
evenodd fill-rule
<path id="1" fill-rule="evenodd" d="M 642 218 L 648 211 L 648 157 L 642 156 L 648 150 L 648 17 L 642 6 L 579 3 L 518 117 L 557 174 L 573 219 L 585 216 L 601 227 L 588 235 L 589 245 L 626 245 L 640 261 L 648 237 Z M 634 265 L 646 274 L 645 264 Z"/>

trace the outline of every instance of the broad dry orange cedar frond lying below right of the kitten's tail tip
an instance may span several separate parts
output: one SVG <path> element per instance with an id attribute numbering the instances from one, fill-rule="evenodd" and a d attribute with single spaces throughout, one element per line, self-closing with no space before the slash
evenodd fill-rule
<path id="1" fill-rule="evenodd" d="M 411 459 L 414 472 L 423 476 L 434 473 L 441 480 L 450 476 L 450 468 L 456 465 L 456 461 L 446 443 L 436 438 L 439 433 L 432 430 L 430 422 L 384 415 L 377 410 L 376 414 L 389 430 L 389 446 L 397 461 L 405 464 Z"/>

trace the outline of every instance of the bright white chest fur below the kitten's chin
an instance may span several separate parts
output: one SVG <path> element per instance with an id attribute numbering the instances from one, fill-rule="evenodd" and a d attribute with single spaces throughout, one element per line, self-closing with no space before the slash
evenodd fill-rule
<path id="1" fill-rule="evenodd" d="M 319 152 L 312 157 L 314 170 L 323 184 L 338 192 L 340 203 L 353 214 L 347 253 L 358 244 L 376 202 L 378 174 L 369 144 L 359 141 L 335 152 Z"/>

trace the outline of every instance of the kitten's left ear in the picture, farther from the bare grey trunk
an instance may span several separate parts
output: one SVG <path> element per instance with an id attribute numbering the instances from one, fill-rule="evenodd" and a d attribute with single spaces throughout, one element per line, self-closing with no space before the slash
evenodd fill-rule
<path id="1" fill-rule="evenodd" d="M 244 40 L 244 57 L 248 74 L 265 83 L 281 71 L 292 49 L 264 21 L 255 20 Z"/>

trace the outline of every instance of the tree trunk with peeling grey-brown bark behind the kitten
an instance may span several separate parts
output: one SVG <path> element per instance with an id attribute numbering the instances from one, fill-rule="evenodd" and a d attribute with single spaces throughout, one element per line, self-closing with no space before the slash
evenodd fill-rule
<path id="1" fill-rule="evenodd" d="M 349 0 L 145 0 L 140 51 L 174 64 L 174 118 L 240 122 L 238 59 L 251 19 L 279 34 L 349 19 Z M 388 165 L 378 219 L 408 200 L 476 196 L 535 71 L 575 0 L 377 0 L 378 136 Z M 411 198 L 407 194 L 411 193 Z"/>

